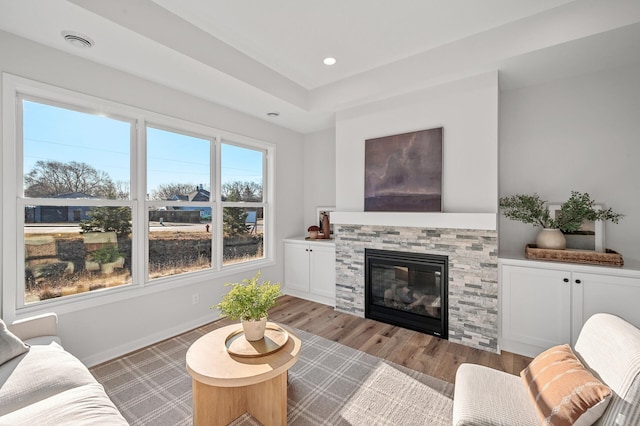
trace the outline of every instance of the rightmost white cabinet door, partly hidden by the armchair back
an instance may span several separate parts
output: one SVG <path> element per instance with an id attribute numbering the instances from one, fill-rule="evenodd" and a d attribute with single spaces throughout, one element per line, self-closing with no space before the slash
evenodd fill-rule
<path id="1" fill-rule="evenodd" d="M 640 327 L 640 279 L 588 273 L 574 273 L 572 343 L 582 325 L 593 314 L 606 312 Z"/>

